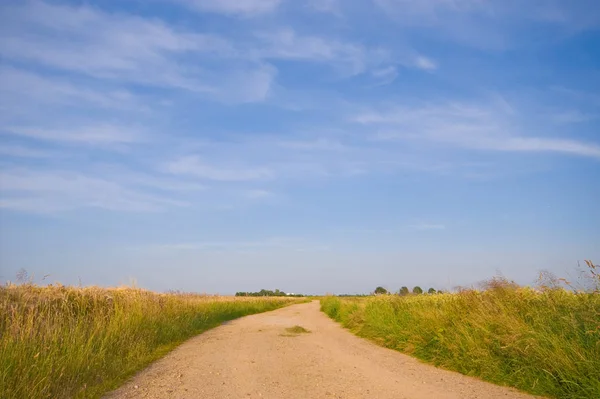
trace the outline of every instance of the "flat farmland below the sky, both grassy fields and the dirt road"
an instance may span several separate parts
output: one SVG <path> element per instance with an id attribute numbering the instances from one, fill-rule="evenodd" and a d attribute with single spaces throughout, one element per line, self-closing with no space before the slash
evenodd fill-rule
<path id="1" fill-rule="evenodd" d="M 480 289 L 377 287 L 378 295 L 326 296 L 320 304 L 7 284 L 0 397 L 595 398 L 600 279 L 588 266 L 587 291 L 495 278 Z"/>

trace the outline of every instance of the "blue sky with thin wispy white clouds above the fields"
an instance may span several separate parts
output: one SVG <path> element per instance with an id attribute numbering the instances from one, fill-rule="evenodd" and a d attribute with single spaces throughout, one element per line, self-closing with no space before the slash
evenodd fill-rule
<path id="1" fill-rule="evenodd" d="M 600 259 L 599 28 L 595 0 L 2 1 L 0 282 L 569 277 Z"/>

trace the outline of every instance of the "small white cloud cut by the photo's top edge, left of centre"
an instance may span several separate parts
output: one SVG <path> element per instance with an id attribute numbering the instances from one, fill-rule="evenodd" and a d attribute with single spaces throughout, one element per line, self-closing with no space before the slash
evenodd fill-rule
<path id="1" fill-rule="evenodd" d="M 273 12 L 281 0 L 176 0 L 177 2 L 202 12 L 227 15 L 255 16 Z"/>

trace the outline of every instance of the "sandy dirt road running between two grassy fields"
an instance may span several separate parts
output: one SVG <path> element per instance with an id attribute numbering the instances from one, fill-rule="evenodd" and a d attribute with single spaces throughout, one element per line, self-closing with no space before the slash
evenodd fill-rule
<path id="1" fill-rule="evenodd" d="M 309 333 L 286 328 L 302 326 Z M 107 398 L 532 398 L 381 348 L 319 303 L 244 317 L 199 335 Z"/>

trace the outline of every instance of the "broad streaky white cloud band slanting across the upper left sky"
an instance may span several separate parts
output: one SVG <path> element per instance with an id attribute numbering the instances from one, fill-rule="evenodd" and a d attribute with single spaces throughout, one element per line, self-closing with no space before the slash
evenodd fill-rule
<path id="1" fill-rule="evenodd" d="M 3 7 L 0 12 L 4 22 L 0 55 L 5 59 L 114 85 L 134 83 L 188 90 L 226 102 L 253 102 L 266 98 L 276 72 L 250 57 L 244 45 L 236 48 L 217 35 L 178 29 L 157 19 L 42 2 Z M 219 61 L 218 67 L 206 67 L 214 60 Z M 43 95 L 58 93 L 56 101 L 83 99 L 115 107 L 129 100 L 122 89 L 99 94 L 64 79 L 48 81 L 32 73 L 9 72 Z"/>

